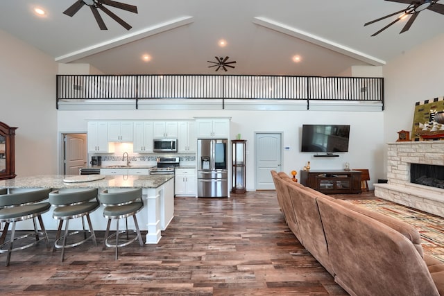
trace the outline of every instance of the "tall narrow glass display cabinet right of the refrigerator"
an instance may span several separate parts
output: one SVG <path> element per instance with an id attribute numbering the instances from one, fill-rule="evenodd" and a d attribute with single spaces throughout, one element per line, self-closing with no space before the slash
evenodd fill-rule
<path id="1" fill-rule="evenodd" d="M 245 159 L 247 140 L 231 140 L 232 142 L 232 193 L 246 193 Z"/>

